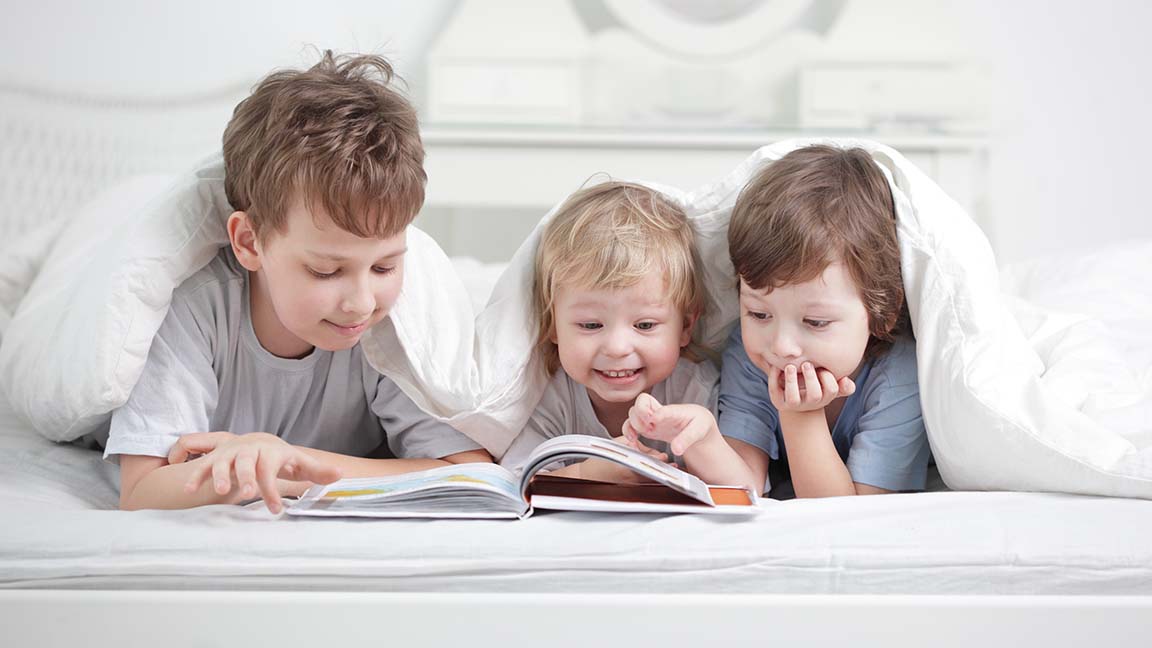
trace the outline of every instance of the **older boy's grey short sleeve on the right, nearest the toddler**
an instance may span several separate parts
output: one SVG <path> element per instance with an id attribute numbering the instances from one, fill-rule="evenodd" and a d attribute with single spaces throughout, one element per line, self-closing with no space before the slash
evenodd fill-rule
<path id="1" fill-rule="evenodd" d="M 372 413 L 380 420 L 388 449 L 401 459 L 440 459 L 480 450 L 463 432 L 417 407 L 396 383 L 384 376 L 377 384 Z"/>

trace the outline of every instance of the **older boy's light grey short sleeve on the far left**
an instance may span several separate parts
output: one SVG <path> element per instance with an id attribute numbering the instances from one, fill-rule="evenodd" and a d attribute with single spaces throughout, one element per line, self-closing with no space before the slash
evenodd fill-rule
<path id="1" fill-rule="evenodd" d="M 213 368 L 218 332 L 211 308 L 194 308 L 192 301 L 188 293 L 174 296 L 143 374 L 128 401 L 112 414 L 106 459 L 167 457 L 182 435 L 210 431 L 219 399 Z"/>

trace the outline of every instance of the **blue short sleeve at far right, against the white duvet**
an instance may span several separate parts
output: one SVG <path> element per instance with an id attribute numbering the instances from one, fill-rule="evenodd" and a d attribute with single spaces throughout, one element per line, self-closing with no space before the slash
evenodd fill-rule
<path id="1" fill-rule="evenodd" d="M 931 457 L 916 347 L 904 341 L 877 361 L 848 452 L 852 481 L 887 490 L 923 490 Z"/>

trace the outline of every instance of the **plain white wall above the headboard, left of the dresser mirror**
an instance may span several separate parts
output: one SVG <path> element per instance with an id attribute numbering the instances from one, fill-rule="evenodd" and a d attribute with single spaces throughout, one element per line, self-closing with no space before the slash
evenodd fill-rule
<path id="1" fill-rule="evenodd" d="M 408 74 L 454 5 L 0 0 L 0 84 L 130 98 L 247 86 L 314 61 L 308 46 L 378 52 Z"/>

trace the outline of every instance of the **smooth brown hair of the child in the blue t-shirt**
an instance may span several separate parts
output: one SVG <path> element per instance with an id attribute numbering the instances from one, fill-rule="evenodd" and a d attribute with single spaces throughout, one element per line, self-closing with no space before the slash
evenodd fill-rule
<path id="1" fill-rule="evenodd" d="M 816 279 L 839 261 L 867 309 L 866 356 L 910 334 L 888 181 L 863 149 L 808 146 L 760 171 L 728 226 L 736 276 L 764 291 Z"/>

